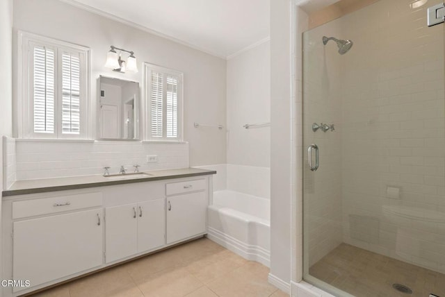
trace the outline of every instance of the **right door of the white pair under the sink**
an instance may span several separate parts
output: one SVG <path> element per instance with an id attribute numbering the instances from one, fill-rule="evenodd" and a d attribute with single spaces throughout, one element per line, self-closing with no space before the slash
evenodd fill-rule
<path id="1" fill-rule="evenodd" d="M 138 252 L 165 244 L 164 198 L 138 203 Z"/>

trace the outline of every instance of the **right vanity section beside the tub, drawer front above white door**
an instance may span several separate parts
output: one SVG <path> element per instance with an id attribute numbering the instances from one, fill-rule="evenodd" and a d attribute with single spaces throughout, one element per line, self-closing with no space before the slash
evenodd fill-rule
<path id="1" fill-rule="evenodd" d="M 207 232 L 207 181 L 205 179 L 168 183 L 167 244 Z"/>

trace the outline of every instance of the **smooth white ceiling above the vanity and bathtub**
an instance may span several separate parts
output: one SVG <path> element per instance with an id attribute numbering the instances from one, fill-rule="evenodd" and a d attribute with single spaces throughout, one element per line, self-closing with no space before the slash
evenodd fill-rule
<path id="1" fill-rule="evenodd" d="M 227 58 L 269 36 L 270 0 L 62 0 Z"/>

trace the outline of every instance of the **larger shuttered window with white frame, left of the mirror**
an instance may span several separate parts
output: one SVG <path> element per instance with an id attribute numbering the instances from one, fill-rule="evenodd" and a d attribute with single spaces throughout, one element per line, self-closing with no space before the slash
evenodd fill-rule
<path id="1" fill-rule="evenodd" d="M 90 50 L 24 32 L 19 42 L 19 137 L 86 139 Z"/>

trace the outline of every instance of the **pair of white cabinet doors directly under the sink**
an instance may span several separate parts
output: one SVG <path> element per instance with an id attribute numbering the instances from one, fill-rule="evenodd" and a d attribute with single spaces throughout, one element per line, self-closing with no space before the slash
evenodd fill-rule
<path id="1" fill-rule="evenodd" d="M 106 207 L 106 262 L 165 244 L 165 199 Z"/>

